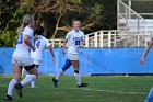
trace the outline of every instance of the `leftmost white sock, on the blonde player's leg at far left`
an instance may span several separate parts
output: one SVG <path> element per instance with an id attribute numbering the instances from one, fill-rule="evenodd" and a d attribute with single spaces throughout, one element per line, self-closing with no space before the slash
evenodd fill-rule
<path id="1" fill-rule="evenodd" d="M 17 80 L 16 79 L 12 79 L 9 83 L 9 87 L 8 87 L 8 95 L 12 97 L 13 95 L 13 90 L 14 90 L 14 84 L 17 83 Z"/>

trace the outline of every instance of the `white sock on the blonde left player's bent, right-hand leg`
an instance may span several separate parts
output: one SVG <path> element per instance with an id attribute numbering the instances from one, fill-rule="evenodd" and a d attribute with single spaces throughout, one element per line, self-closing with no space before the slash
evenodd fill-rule
<path id="1" fill-rule="evenodd" d="M 35 75 L 28 75 L 21 81 L 21 84 L 25 86 L 25 84 L 30 83 L 31 81 L 35 81 L 35 80 L 36 80 Z"/>

